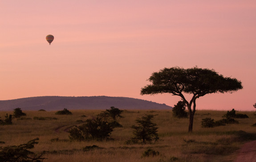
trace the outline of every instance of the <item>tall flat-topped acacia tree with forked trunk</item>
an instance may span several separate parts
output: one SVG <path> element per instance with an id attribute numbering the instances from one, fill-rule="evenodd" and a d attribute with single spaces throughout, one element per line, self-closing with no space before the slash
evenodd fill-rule
<path id="1" fill-rule="evenodd" d="M 223 77 L 213 69 L 198 67 L 188 69 L 182 67 L 164 68 L 159 72 L 154 72 L 148 81 L 152 84 L 143 87 L 141 95 L 170 93 L 180 96 L 187 104 L 189 111 L 188 132 L 192 132 L 193 129 L 196 99 L 206 94 L 232 93 L 243 88 L 241 81 L 236 78 Z M 185 99 L 184 93 L 192 95 L 190 101 Z"/>

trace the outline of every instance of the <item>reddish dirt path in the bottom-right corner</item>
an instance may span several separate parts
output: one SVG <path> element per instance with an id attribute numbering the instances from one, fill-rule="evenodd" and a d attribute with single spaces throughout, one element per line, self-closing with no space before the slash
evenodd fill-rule
<path id="1" fill-rule="evenodd" d="M 237 151 L 237 157 L 234 162 L 256 162 L 256 141 L 245 143 Z"/>

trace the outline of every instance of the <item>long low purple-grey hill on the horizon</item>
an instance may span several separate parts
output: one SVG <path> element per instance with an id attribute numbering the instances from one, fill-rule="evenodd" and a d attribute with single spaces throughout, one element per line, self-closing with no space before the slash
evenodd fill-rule
<path id="1" fill-rule="evenodd" d="M 13 111 L 20 107 L 22 110 L 40 110 L 57 111 L 67 108 L 68 110 L 82 109 L 109 109 L 117 107 L 119 109 L 171 109 L 165 104 L 154 103 L 143 99 L 134 99 L 128 97 L 63 97 L 63 96 L 42 96 L 29 97 L 22 99 L 1 100 L 0 111 Z"/>

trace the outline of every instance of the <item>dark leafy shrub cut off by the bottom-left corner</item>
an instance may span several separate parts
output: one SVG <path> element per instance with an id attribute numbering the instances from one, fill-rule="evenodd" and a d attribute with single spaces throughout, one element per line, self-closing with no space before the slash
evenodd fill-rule
<path id="1" fill-rule="evenodd" d="M 0 147 L 1 162 L 42 162 L 42 154 L 37 155 L 29 149 L 33 149 L 38 138 L 19 146 Z"/>

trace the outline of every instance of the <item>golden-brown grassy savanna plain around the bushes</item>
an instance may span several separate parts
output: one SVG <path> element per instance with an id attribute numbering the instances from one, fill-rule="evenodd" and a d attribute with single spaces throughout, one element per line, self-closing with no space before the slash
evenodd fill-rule
<path id="1" fill-rule="evenodd" d="M 103 111 L 103 110 L 102 110 Z M 30 119 L 13 119 L 12 125 L 0 126 L 0 146 L 20 145 L 34 138 L 39 144 L 32 150 L 44 154 L 44 162 L 219 162 L 232 161 L 235 151 L 245 142 L 256 139 L 254 112 L 238 112 L 249 116 L 248 119 L 236 119 L 239 124 L 229 124 L 214 128 L 202 128 L 203 118 L 223 119 L 227 111 L 196 111 L 193 133 L 188 134 L 188 119 L 173 118 L 171 111 L 124 111 L 124 118 L 118 119 L 122 128 L 114 128 L 111 141 L 70 142 L 68 130 L 81 124 L 81 120 L 96 118 L 98 110 L 76 110 L 73 115 L 55 115 L 56 111 L 23 111 Z M 12 114 L 0 112 L 4 115 Z M 153 122 L 157 124 L 159 142 L 152 144 L 126 144 L 133 137 L 130 126 L 136 125 L 135 119 L 143 115 L 157 115 Z M 86 117 L 81 117 L 85 115 Z M 56 120 L 35 120 L 34 117 L 57 118 Z M 79 121 L 80 120 L 80 121 Z M 242 131 L 241 131 L 242 130 Z M 58 138 L 58 141 L 52 139 Z M 66 140 L 65 140 L 66 139 Z M 195 142 L 185 142 L 195 140 Z M 100 149 L 82 151 L 85 146 L 97 145 Z M 155 157 L 144 157 L 148 148 L 158 151 Z M 176 160 L 175 160 L 176 159 Z"/>

